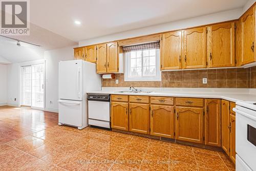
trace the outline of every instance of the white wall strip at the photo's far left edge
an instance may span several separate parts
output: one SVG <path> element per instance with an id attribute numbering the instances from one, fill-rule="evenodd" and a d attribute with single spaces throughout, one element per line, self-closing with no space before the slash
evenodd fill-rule
<path id="1" fill-rule="evenodd" d="M 7 104 L 7 66 L 0 65 L 0 106 Z"/>

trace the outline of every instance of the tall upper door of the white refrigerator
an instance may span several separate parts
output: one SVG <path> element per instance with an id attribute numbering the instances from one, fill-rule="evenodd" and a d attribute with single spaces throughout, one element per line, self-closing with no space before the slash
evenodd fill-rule
<path id="1" fill-rule="evenodd" d="M 59 99 L 82 100 L 83 61 L 59 61 Z"/>

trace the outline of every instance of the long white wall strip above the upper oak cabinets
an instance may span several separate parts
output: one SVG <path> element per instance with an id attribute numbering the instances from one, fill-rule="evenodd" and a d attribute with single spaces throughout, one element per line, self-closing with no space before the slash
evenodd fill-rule
<path id="1" fill-rule="evenodd" d="M 207 25 L 211 23 L 223 22 L 226 20 L 238 19 L 242 15 L 242 13 L 243 13 L 243 9 L 241 8 L 241 9 L 234 9 L 230 11 L 219 12 L 215 14 L 209 14 L 209 15 L 204 15 L 204 16 L 199 16 L 194 18 L 178 20 L 176 22 L 170 22 L 166 24 L 130 30 L 126 32 L 101 36 L 97 38 L 81 40 L 79 41 L 79 46 L 87 46 L 92 44 L 98 44 L 101 42 L 120 40 L 120 39 L 137 37 L 137 36 L 142 36 L 147 34 L 185 29 L 189 27 L 196 27 L 196 26 Z"/>

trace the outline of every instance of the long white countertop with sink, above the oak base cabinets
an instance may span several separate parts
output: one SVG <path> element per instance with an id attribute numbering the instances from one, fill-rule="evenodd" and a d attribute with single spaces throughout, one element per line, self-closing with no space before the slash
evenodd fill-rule
<path id="1" fill-rule="evenodd" d="M 170 97 L 197 97 L 197 98 L 219 98 L 225 99 L 232 102 L 246 101 L 256 102 L 256 94 L 250 93 L 236 93 L 227 90 L 227 93 L 222 92 L 168 92 L 168 91 L 153 91 L 151 93 L 120 93 L 122 90 L 102 90 L 102 91 L 91 91 L 87 93 L 92 94 L 118 94 L 118 95 L 138 95 L 138 96 L 170 96 Z M 127 91 L 127 89 L 126 89 Z M 143 90 L 146 91 L 146 90 Z M 152 91 L 152 90 L 148 90 Z"/>

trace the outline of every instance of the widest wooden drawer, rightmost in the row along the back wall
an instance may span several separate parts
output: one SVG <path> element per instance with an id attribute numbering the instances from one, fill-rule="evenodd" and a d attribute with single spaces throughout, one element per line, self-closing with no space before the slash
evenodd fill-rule
<path id="1" fill-rule="evenodd" d="M 176 105 L 203 106 L 202 98 L 176 98 Z"/>

